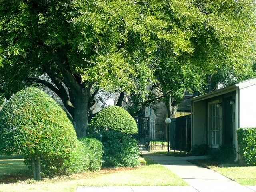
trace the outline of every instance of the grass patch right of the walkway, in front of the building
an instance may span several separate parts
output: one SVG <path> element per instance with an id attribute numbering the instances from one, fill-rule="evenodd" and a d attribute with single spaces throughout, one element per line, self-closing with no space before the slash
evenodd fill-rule
<path id="1" fill-rule="evenodd" d="M 238 183 L 241 185 L 256 185 L 256 166 L 232 166 L 232 167 L 218 167 L 218 162 L 212 162 L 209 160 L 189 160 L 194 164 L 208 167 Z"/>

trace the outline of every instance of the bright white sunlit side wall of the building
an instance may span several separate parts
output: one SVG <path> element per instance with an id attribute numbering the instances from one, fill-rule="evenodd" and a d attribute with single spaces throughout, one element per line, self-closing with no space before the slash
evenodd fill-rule
<path id="1" fill-rule="evenodd" d="M 256 127 L 256 85 L 240 89 L 240 127 Z"/>

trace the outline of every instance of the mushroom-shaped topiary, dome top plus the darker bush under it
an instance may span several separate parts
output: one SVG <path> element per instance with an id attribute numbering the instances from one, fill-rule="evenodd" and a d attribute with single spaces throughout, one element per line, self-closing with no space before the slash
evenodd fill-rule
<path id="1" fill-rule="evenodd" d="M 138 132 L 134 118 L 123 108 L 102 109 L 89 125 L 89 134 L 102 141 L 103 165 L 133 167 L 139 164 L 139 149 L 132 134 Z"/>

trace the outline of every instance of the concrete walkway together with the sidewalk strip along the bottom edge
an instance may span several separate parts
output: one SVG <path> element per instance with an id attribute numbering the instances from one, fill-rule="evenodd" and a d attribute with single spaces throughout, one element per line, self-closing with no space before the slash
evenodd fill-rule
<path id="1" fill-rule="evenodd" d="M 256 192 L 256 186 L 242 186 L 217 172 L 186 161 L 198 157 L 172 157 L 146 151 L 142 154 L 162 164 L 190 186 L 78 187 L 77 192 Z"/>

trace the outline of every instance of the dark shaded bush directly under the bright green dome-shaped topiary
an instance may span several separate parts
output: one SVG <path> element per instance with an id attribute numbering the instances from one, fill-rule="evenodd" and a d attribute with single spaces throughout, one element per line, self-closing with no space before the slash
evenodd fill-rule
<path id="1" fill-rule="evenodd" d="M 102 135 L 102 138 L 100 138 Z M 94 134 L 103 144 L 103 165 L 108 167 L 134 167 L 139 164 L 137 141 L 129 134 L 104 130 Z"/>

